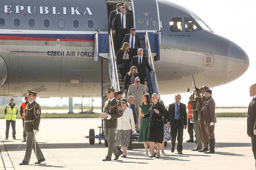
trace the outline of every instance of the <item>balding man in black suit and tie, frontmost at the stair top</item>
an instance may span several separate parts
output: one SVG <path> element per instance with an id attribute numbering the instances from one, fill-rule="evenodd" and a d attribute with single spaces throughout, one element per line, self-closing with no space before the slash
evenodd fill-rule
<path id="1" fill-rule="evenodd" d="M 113 24 L 113 35 L 117 35 L 118 49 L 121 48 L 125 34 L 133 28 L 131 16 L 125 13 L 125 7 L 121 6 L 121 14 L 116 14 Z"/>

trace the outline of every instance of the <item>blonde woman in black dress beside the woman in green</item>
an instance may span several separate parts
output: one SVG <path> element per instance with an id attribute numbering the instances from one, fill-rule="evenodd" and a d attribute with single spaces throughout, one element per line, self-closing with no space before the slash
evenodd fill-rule
<path id="1" fill-rule="evenodd" d="M 150 117 L 149 121 L 149 136 L 148 142 L 150 142 L 151 150 L 155 151 L 155 142 L 157 145 L 157 155 L 155 152 L 151 153 L 149 158 L 160 158 L 161 144 L 164 138 L 164 120 L 165 116 L 164 105 L 159 103 L 159 95 L 154 93 L 151 97 L 153 103 L 149 105 L 149 112 L 142 114 L 142 117 Z"/>

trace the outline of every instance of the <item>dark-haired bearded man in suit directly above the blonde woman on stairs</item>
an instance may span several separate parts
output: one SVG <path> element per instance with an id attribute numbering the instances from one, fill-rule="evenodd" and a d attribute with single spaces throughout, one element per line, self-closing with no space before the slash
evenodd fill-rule
<path id="1" fill-rule="evenodd" d="M 129 50 L 132 54 L 132 57 L 138 55 L 138 49 L 141 48 L 140 45 L 140 36 L 135 35 L 135 28 L 132 28 L 130 34 L 126 34 L 122 43 L 122 46 L 125 42 L 129 43 Z"/>

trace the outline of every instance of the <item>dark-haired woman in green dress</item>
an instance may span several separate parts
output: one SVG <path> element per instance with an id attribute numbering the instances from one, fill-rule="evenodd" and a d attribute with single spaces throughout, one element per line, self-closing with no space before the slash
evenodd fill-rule
<path id="1" fill-rule="evenodd" d="M 144 94 L 142 96 L 142 102 L 139 106 L 139 128 L 140 134 L 138 138 L 138 142 L 143 142 L 145 147 L 145 156 L 148 156 L 148 135 L 149 135 L 149 120 L 150 117 L 142 117 L 141 114 L 147 114 L 149 111 L 149 104 L 151 103 L 150 96 L 148 94 Z M 149 152 L 151 154 L 151 147 L 149 145 Z"/>

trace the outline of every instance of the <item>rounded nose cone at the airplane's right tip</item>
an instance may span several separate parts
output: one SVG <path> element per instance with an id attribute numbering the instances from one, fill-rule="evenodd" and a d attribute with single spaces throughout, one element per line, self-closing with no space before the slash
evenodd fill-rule
<path id="1" fill-rule="evenodd" d="M 249 57 L 236 43 L 230 41 L 228 46 L 228 70 L 226 83 L 236 80 L 249 67 Z"/>

